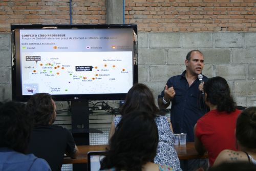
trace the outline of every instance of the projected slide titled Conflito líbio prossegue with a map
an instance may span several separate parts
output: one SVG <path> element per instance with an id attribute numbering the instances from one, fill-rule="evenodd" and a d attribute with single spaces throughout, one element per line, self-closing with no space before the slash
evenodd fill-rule
<path id="1" fill-rule="evenodd" d="M 127 93 L 133 30 L 20 30 L 23 95 Z"/>

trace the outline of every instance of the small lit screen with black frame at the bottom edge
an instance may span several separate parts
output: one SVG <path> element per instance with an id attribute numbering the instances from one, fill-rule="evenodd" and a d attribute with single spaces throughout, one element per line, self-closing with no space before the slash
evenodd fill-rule
<path id="1" fill-rule="evenodd" d="M 100 168 L 100 160 L 104 158 L 102 155 L 103 151 L 88 152 L 88 171 L 98 171 Z"/>

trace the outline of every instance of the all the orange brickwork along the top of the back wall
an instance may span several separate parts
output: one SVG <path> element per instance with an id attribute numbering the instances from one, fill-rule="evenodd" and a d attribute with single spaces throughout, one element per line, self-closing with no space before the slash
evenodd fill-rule
<path id="1" fill-rule="evenodd" d="M 122 0 L 120 0 L 122 1 Z M 10 24 L 70 24 L 70 1 L 0 2 L 0 32 Z M 105 24 L 106 1 L 73 0 L 73 24 Z M 256 31 L 255 0 L 125 0 L 125 24 L 139 31 Z"/>

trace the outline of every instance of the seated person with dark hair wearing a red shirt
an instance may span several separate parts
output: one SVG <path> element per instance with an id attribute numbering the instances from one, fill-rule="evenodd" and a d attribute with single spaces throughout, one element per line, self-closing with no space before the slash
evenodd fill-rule
<path id="1" fill-rule="evenodd" d="M 194 126 L 195 148 L 199 154 L 208 152 L 212 166 L 223 149 L 237 151 L 235 127 L 241 111 L 236 109 L 236 102 L 224 78 L 210 78 L 204 83 L 203 90 L 210 111 Z"/>

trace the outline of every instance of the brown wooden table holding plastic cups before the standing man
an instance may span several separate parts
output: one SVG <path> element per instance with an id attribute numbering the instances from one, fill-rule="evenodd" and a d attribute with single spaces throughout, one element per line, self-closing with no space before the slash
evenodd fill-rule
<path id="1" fill-rule="evenodd" d="M 63 164 L 87 163 L 87 153 L 92 151 L 105 151 L 108 145 L 78 145 L 79 155 L 76 159 L 65 157 Z M 205 159 L 207 154 L 199 155 L 195 149 L 194 142 L 187 142 L 186 145 L 175 145 L 180 160 Z"/>

